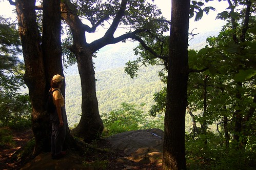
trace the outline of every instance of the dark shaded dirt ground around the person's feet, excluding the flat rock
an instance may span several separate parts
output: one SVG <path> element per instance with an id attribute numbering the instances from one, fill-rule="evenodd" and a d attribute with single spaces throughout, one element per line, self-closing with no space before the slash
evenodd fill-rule
<path id="1" fill-rule="evenodd" d="M 141 169 L 141 170 L 161 170 L 161 165 L 156 163 L 142 163 L 134 161 L 120 161 L 119 158 L 126 157 L 123 151 L 111 151 L 110 144 L 102 139 L 97 142 L 97 148 L 108 152 L 90 152 L 90 155 L 81 157 L 69 152 L 67 156 L 59 160 L 52 160 L 50 153 L 43 153 L 36 158 L 25 162 L 14 161 L 12 155 L 33 138 L 32 130 L 12 131 L 15 146 L 4 146 L 0 148 L 0 169 Z M 107 148 L 107 149 L 106 149 Z M 41 163 L 40 163 L 41 162 Z M 73 164 L 73 165 L 72 165 Z M 43 166 L 44 167 L 43 167 Z M 56 165 L 59 166 L 56 168 Z M 55 167 L 54 167 L 55 166 Z M 69 168 L 70 167 L 70 168 Z"/>

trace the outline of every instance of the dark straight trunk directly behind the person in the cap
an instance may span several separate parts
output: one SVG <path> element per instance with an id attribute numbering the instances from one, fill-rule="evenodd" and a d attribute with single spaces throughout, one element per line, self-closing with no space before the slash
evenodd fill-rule
<path id="1" fill-rule="evenodd" d="M 50 80 L 55 74 L 63 74 L 62 47 L 61 47 L 61 0 L 44 0 L 43 2 L 43 36 L 42 50 L 44 53 L 44 66 L 46 77 L 45 94 L 50 89 Z M 65 82 L 65 81 L 64 81 Z M 65 83 L 62 86 L 62 94 L 65 97 Z M 51 129 L 50 129 L 51 130 Z M 50 136 L 49 136 L 50 137 Z M 65 146 L 73 147 L 73 137 L 66 124 Z M 49 140 L 50 142 L 50 140 Z"/>

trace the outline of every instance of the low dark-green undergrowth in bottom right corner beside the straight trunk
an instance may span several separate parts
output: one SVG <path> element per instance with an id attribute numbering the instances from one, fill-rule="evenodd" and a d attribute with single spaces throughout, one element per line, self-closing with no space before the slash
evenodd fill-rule
<path id="1" fill-rule="evenodd" d="M 225 139 L 207 132 L 193 138 L 186 135 L 187 169 L 256 169 L 256 154 L 245 148 L 224 144 Z"/>

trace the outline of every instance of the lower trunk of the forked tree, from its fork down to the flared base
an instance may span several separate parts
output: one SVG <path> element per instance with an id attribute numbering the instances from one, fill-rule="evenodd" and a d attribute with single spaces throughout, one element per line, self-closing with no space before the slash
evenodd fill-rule
<path id="1" fill-rule="evenodd" d="M 82 116 L 76 128 L 72 131 L 75 136 L 90 142 L 103 131 L 103 121 L 100 117 L 95 88 L 95 73 L 92 54 L 89 50 L 74 52 L 77 59 L 78 71 L 82 87 Z"/>

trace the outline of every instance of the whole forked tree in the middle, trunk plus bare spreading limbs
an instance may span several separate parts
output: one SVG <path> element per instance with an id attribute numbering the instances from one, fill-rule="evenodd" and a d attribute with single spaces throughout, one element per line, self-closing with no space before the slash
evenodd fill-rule
<path id="1" fill-rule="evenodd" d="M 142 28 L 125 33 L 119 37 L 114 37 L 115 31 L 125 15 L 127 4 L 127 0 L 122 0 L 120 8 L 116 12 L 105 35 L 88 44 L 85 32 L 95 32 L 97 26 L 101 25 L 109 16 L 106 15 L 95 25 L 89 27 L 82 23 L 77 16 L 76 7 L 69 0 L 62 1 L 61 3 L 62 18 L 69 25 L 72 32 L 73 45 L 69 49 L 76 57 L 82 86 L 82 116 L 76 128 L 72 130 L 72 133 L 78 137 L 82 137 L 85 141 L 95 139 L 95 137 L 100 135 L 103 131 L 103 122 L 99 114 L 96 98 L 95 73 L 92 63 L 93 53 L 106 45 L 115 44 L 127 38 L 135 39 L 134 35 L 146 31 L 146 28 Z"/>

